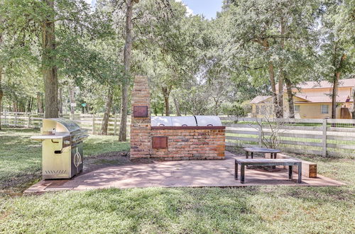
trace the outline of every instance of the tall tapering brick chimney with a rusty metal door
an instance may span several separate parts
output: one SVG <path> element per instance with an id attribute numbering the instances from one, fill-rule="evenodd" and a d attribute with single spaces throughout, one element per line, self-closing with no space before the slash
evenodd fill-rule
<path id="1" fill-rule="evenodd" d="M 148 77 L 136 76 L 134 79 L 131 103 L 131 158 L 151 157 L 151 93 Z M 146 117 L 136 117 L 145 112 L 145 106 L 148 109 Z"/>

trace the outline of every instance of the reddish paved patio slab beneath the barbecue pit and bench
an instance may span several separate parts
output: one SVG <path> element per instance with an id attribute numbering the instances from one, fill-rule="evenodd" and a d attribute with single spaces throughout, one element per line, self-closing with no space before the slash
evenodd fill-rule
<path id="1" fill-rule="evenodd" d="M 234 159 L 244 158 L 226 152 L 226 160 L 155 161 L 140 165 L 117 165 L 81 174 L 73 179 L 42 180 L 25 191 L 25 194 L 46 191 L 88 190 L 136 187 L 203 187 L 203 186 L 342 186 L 342 182 L 318 175 L 317 178 L 297 175 L 288 179 L 288 171 L 266 172 L 246 169 L 245 184 L 234 179 Z"/>

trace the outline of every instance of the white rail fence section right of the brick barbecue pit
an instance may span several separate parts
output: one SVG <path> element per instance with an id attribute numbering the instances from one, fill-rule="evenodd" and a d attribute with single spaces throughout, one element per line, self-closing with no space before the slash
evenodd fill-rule
<path id="1" fill-rule="evenodd" d="M 355 157 L 355 120 L 281 119 L 278 148 L 284 152 Z M 222 117 L 226 145 L 263 146 L 262 135 L 271 135 L 272 123 L 256 118 Z M 272 122 L 272 121 L 270 121 Z M 262 127 L 261 127 L 262 126 Z"/>

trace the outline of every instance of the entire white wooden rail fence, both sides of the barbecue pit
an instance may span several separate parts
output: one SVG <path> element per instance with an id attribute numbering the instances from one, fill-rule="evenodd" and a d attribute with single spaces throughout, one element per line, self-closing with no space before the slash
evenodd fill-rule
<path id="1" fill-rule="evenodd" d="M 63 114 L 71 118 L 90 134 L 98 134 L 104 114 Z M 1 125 L 22 128 L 40 128 L 43 114 L 3 112 Z M 271 135 L 270 123 L 257 118 L 221 117 L 226 126 L 226 145 L 236 147 L 263 146 L 262 135 Z M 355 120 L 345 119 L 281 119 L 278 130 L 280 144 L 284 152 L 335 157 L 355 157 Z M 260 123 L 262 129 L 260 127 Z M 131 116 L 127 122 L 127 133 Z M 119 114 L 110 115 L 108 134 L 118 135 Z"/>

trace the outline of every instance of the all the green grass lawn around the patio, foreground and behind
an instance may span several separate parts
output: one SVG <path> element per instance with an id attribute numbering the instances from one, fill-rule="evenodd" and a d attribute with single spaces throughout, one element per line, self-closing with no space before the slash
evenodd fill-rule
<path id="1" fill-rule="evenodd" d="M 1 184 L 40 174 L 40 144 L 28 140 L 33 132 L 0 132 Z M 94 136 L 84 152 L 95 155 L 128 146 Z M 348 185 L 4 193 L 0 233 L 354 233 L 354 160 L 307 159 L 318 163 L 320 174 Z"/>

